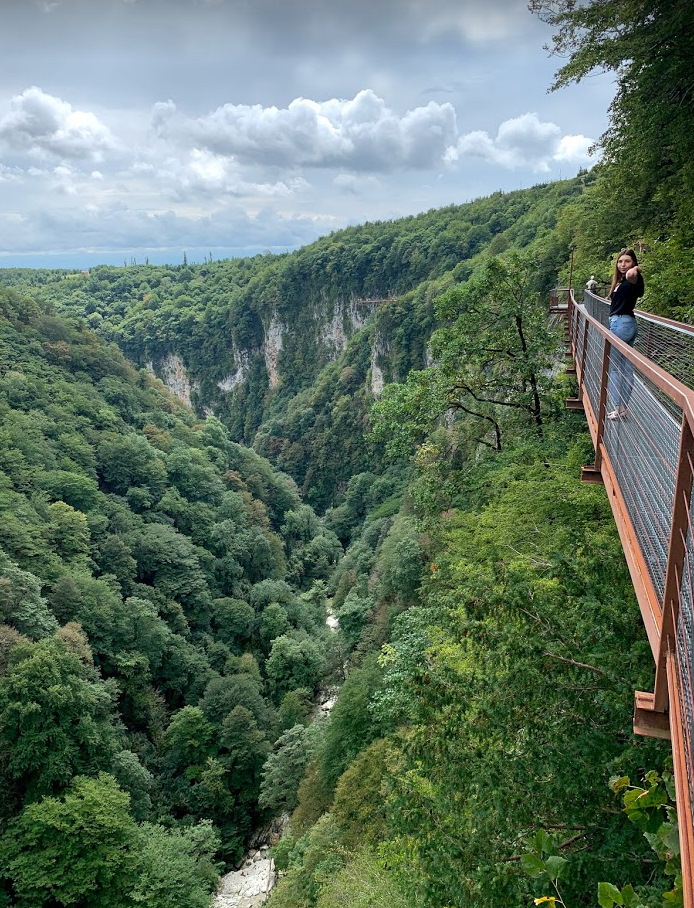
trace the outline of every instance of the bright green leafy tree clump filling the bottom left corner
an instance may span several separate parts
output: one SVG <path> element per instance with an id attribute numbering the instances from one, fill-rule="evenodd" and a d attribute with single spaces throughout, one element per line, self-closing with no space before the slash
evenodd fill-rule
<path id="1" fill-rule="evenodd" d="M 208 908 L 218 879 L 211 824 L 138 827 L 128 807 L 101 773 L 75 778 L 62 800 L 25 808 L 0 840 L 17 904 Z"/>

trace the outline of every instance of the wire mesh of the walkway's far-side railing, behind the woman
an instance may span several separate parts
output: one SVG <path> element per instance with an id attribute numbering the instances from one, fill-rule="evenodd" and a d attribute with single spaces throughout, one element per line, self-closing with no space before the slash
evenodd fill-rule
<path id="1" fill-rule="evenodd" d="M 609 328 L 610 304 L 586 290 L 583 305 L 589 315 Z M 637 312 L 638 334 L 634 348 L 652 362 L 679 379 L 688 388 L 694 386 L 694 327 Z"/>

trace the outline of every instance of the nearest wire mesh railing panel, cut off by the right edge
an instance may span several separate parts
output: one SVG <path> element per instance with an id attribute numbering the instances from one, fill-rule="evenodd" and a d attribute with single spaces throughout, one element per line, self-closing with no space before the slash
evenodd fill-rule
<path id="1" fill-rule="evenodd" d="M 694 532 L 688 512 L 687 539 L 680 582 L 679 616 L 676 629 L 677 667 L 680 677 L 680 709 L 684 719 L 685 763 L 690 801 L 694 803 Z"/>

